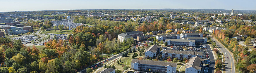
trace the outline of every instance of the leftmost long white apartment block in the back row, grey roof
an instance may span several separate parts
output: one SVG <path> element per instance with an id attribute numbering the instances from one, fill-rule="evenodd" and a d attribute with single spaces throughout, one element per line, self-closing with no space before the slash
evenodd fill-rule
<path id="1" fill-rule="evenodd" d="M 179 34 L 165 34 L 165 35 L 157 35 L 156 40 L 157 41 L 162 41 L 165 39 L 180 39 Z"/>

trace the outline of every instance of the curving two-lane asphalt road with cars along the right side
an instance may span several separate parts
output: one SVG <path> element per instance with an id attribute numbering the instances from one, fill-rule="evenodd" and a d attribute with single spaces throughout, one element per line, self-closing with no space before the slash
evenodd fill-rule
<path id="1" fill-rule="evenodd" d="M 211 37 L 209 35 L 207 35 L 208 37 Z M 211 37 L 212 38 L 212 37 Z M 212 38 L 212 41 L 216 41 L 215 39 Z M 226 73 L 235 73 L 235 63 L 233 60 L 233 57 L 231 56 L 231 54 L 227 51 L 226 48 L 224 48 L 224 46 L 222 46 L 219 42 L 216 41 L 216 46 L 222 51 L 222 53 L 227 53 L 224 54 L 224 71 L 226 71 Z M 227 58 L 228 57 L 228 58 Z"/>

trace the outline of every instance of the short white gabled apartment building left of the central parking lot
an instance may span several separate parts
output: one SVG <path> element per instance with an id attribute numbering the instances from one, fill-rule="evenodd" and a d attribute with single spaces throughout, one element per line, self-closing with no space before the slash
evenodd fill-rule
<path id="1" fill-rule="evenodd" d="M 160 46 L 152 45 L 145 51 L 145 57 L 152 57 L 154 58 L 157 56 L 157 52 L 160 51 Z"/>

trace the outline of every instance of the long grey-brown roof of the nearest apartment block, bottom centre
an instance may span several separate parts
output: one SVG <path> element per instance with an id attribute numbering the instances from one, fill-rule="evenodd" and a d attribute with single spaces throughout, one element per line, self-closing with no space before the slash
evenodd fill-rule
<path id="1" fill-rule="evenodd" d="M 138 62 L 139 64 L 146 64 L 146 65 L 158 65 L 158 66 L 177 67 L 177 63 L 164 62 L 164 61 L 136 60 L 136 59 L 133 59 L 131 63 L 135 63 L 135 62 Z"/>

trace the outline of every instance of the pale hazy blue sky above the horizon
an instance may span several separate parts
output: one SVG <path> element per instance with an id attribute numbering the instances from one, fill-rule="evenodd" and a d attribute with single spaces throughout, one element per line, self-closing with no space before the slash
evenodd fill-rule
<path id="1" fill-rule="evenodd" d="M 256 0 L 0 0 L 0 12 L 69 9 L 256 10 Z"/>

